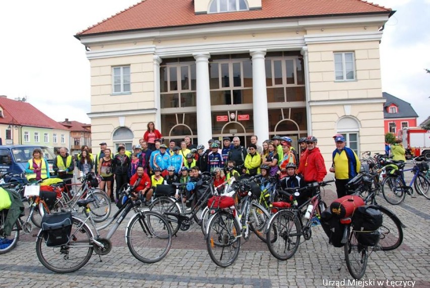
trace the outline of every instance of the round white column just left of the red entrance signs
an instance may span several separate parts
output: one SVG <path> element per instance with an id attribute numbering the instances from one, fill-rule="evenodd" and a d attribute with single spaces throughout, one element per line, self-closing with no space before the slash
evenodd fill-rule
<path id="1" fill-rule="evenodd" d="M 212 138 L 212 115 L 210 113 L 209 58 L 208 53 L 193 54 L 196 60 L 196 106 L 197 141 L 205 145 Z"/>

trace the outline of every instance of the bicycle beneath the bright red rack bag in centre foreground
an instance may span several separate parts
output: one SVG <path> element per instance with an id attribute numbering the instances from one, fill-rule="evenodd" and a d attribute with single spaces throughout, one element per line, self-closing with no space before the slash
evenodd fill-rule
<path id="1" fill-rule="evenodd" d="M 252 181 L 253 177 L 249 180 Z M 213 207 L 212 216 L 209 218 L 206 228 L 205 240 L 209 257 L 215 264 L 224 268 L 236 261 L 241 238 L 247 241 L 250 231 L 257 236 L 263 234 L 270 216 L 261 205 L 252 202 L 256 196 L 251 192 L 251 187 L 247 183 L 241 181 L 236 182 L 236 185 L 236 193 L 242 197 L 238 204 L 241 209 L 236 209 L 233 199 L 233 205 L 230 207 Z"/>

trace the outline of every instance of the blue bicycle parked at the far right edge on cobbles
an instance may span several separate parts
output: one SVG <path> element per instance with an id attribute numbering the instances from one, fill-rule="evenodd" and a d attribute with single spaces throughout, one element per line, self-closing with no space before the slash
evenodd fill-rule
<path id="1" fill-rule="evenodd" d="M 422 165 L 423 163 L 417 165 L 416 159 L 417 158 L 414 158 L 412 160 L 413 167 L 411 169 L 404 169 L 406 162 L 392 161 L 397 167 L 388 172 L 382 182 L 382 194 L 388 203 L 399 205 L 405 200 L 406 194 L 413 197 L 412 184 L 418 195 L 430 199 L 430 180 L 428 180 L 423 173 L 425 165 Z M 413 173 L 412 180 L 409 184 L 405 182 L 404 172 L 406 171 L 411 171 Z"/>

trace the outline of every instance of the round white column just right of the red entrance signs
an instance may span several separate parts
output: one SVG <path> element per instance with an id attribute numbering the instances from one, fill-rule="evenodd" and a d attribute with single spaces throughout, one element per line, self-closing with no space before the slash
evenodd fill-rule
<path id="1" fill-rule="evenodd" d="M 254 134 L 258 139 L 268 139 L 268 112 L 266 71 L 264 65 L 265 50 L 250 51 L 252 56 L 252 103 L 254 111 Z"/>

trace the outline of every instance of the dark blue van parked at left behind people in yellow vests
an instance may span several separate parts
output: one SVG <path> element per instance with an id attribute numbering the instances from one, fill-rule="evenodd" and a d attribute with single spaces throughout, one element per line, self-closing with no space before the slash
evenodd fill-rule
<path id="1" fill-rule="evenodd" d="M 54 175 L 52 170 L 53 160 L 55 155 L 46 146 L 37 145 L 13 145 L 13 146 L 0 146 L 0 174 L 12 172 L 14 174 L 21 174 L 25 172 L 28 160 L 33 157 L 33 150 L 39 148 L 42 150 L 43 157 L 48 161 L 49 174 Z M 5 182 L 21 181 L 20 178 L 5 178 Z"/>

